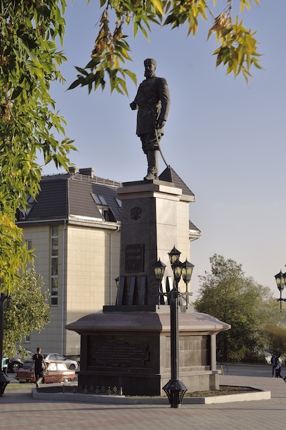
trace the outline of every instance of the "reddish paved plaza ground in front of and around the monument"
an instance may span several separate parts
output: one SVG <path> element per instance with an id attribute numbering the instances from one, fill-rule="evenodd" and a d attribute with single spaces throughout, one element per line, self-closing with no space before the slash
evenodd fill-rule
<path id="1" fill-rule="evenodd" d="M 271 391 L 270 400 L 219 405 L 95 405 L 34 400 L 32 385 L 5 389 L 0 398 L 1 430 L 269 430 L 286 422 L 283 379 L 220 376 L 221 385 L 243 385 Z"/>

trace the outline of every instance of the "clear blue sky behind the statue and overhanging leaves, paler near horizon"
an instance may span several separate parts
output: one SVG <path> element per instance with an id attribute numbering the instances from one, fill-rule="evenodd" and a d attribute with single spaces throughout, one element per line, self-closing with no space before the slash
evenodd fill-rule
<path id="1" fill-rule="evenodd" d="M 224 3 L 217 2 L 216 11 Z M 237 4 L 238 0 L 234 3 Z M 136 87 L 128 81 L 129 99 L 108 87 L 66 91 L 76 78 L 73 66 L 84 67 L 97 36 L 99 1 L 68 0 L 62 66 L 66 84 L 53 85 L 56 108 L 67 120 L 67 136 L 78 152 L 79 168 L 93 166 L 99 177 L 138 181 L 146 172 L 135 135 L 136 113 L 129 103 Z M 133 63 L 126 67 L 143 80 L 143 60 L 156 58 L 157 76 L 167 79 L 171 109 L 162 148 L 167 162 L 196 196 L 190 218 L 202 231 L 191 246 L 194 297 L 198 275 L 210 269 L 213 253 L 243 265 L 246 275 L 268 285 L 278 297 L 274 275 L 286 271 L 286 85 L 285 0 L 261 0 L 243 13 L 246 27 L 257 30 L 263 70 L 242 76 L 215 69 L 215 41 L 206 41 L 209 23 L 187 38 L 186 29 L 154 28 L 150 41 L 129 38 Z M 165 168 L 160 161 L 160 171 Z M 45 174 L 56 173 L 53 165 Z M 167 260 L 167 256 L 160 256 Z M 286 292 L 285 292 L 286 297 Z"/>

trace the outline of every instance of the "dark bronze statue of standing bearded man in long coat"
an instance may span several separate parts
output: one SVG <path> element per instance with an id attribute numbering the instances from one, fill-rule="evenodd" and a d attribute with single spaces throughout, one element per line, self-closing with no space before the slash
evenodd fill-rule
<path id="1" fill-rule="evenodd" d="M 136 135 L 140 137 L 143 152 L 147 155 L 147 176 L 145 180 L 158 178 L 158 142 L 164 134 L 167 121 L 170 94 L 165 78 L 157 78 L 156 61 L 147 58 L 144 61 L 145 80 L 139 85 L 130 108 L 137 113 Z"/>

